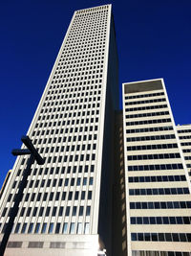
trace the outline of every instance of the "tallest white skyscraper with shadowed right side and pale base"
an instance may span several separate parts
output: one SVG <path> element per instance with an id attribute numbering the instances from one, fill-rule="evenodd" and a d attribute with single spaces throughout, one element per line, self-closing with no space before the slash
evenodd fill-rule
<path id="1" fill-rule="evenodd" d="M 32 165 L 6 255 L 110 253 L 117 46 L 112 6 L 74 12 L 28 135 Z M 28 156 L 0 201 L 0 240 Z"/>

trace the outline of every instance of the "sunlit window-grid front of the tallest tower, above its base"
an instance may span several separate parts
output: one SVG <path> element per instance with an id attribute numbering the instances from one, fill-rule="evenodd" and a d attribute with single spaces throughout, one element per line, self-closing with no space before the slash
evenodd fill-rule
<path id="1" fill-rule="evenodd" d="M 14 233 L 91 233 L 110 12 L 109 5 L 74 12 L 29 133 L 45 167 L 32 165 Z M 1 232 L 27 158 L 17 165 Z"/>

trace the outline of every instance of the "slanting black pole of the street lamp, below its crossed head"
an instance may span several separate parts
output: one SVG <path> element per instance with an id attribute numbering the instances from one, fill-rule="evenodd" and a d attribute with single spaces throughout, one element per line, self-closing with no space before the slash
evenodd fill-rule
<path id="1" fill-rule="evenodd" d="M 27 185 L 27 178 L 31 174 L 31 167 L 32 167 L 33 161 L 34 161 L 34 156 L 33 156 L 33 154 L 31 154 L 31 156 L 30 156 L 30 158 L 27 162 L 27 168 L 25 169 L 25 171 L 23 173 L 23 178 L 22 178 L 22 180 L 20 181 L 20 184 L 19 184 L 18 193 L 15 194 L 14 204 L 13 204 L 13 207 L 11 208 L 11 211 L 10 211 L 10 220 L 8 221 L 8 224 L 5 228 L 5 233 L 4 233 L 4 236 L 3 236 L 3 240 L 0 244 L 0 256 L 4 255 L 6 246 L 8 244 L 8 240 L 9 240 L 10 235 L 11 235 L 11 230 L 12 230 L 12 227 L 13 227 L 14 219 L 15 219 L 17 213 L 18 213 L 18 206 L 19 206 L 20 201 L 22 200 L 23 191 L 24 191 L 24 189 Z"/>

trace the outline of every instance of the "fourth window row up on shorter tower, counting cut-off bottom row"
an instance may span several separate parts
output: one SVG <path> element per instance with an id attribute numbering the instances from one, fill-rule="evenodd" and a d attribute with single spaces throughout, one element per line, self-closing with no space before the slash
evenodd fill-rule
<path id="1" fill-rule="evenodd" d="M 191 201 L 132 201 L 130 209 L 186 209 L 191 208 Z"/>

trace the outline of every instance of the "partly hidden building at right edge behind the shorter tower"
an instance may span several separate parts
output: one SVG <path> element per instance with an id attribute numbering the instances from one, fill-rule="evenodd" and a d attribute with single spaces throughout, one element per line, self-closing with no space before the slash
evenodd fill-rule
<path id="1" fill-rule="evenodd" d="M 191 181 L 191 125 L 178 125 L 177 131 L 188 175 Z"/>

